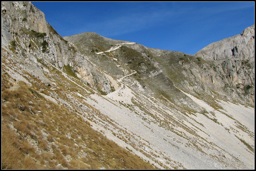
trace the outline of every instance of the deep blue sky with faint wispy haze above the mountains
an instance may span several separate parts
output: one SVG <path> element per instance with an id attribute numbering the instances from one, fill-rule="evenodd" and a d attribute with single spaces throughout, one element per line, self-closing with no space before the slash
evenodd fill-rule
<path id="1" fill-rule="evenodd" d="M 254 24 L 254 2 L 32 2 L 63 37 L 83 32 L 195 54 Z"/>

